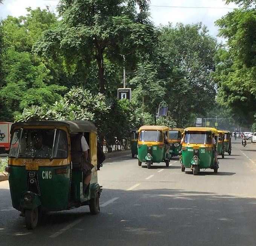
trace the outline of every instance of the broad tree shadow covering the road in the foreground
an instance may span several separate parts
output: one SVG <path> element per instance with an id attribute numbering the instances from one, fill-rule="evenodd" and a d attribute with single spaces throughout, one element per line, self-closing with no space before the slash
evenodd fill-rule
<path id="1" fill-rule="evenodd" d="M 256 198 L 175 189 L 103 192 L 104 202 L 119 199 L 100 214 L 90 215 L 86 206 L 51 212 L 34 231 L 11 212 L 11 220 L 0 220 L 1 245 L 249 246 L 256 241 Z M 50 238 L 56 232 L 61 235 Z"/>

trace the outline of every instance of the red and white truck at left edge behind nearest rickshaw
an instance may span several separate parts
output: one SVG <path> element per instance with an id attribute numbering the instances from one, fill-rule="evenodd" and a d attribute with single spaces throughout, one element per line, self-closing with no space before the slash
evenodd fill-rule
<path id="1" fill-rule="evenodd" d="M 0 122 L 0 153 L 9 153 L 12 122 Z"/>

